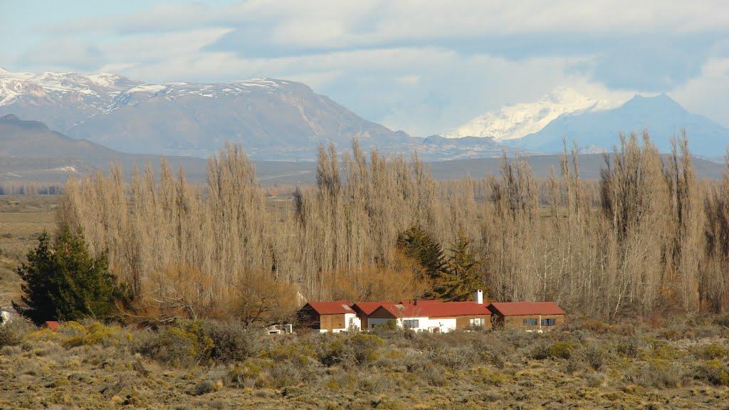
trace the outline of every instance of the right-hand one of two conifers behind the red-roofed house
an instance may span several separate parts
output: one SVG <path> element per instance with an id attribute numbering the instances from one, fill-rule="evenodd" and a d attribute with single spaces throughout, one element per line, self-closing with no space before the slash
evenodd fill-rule
<path id="1" fill-rule="evenodd" d="M 459 232 L 450 256 L 445 260 L 443 274 L 434 283 L 433 292 L 445 301 L 467 301 L 474 290 L 483 288 L 481 261 L 470 252 L 471 241 Z"/>

